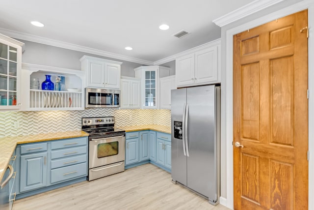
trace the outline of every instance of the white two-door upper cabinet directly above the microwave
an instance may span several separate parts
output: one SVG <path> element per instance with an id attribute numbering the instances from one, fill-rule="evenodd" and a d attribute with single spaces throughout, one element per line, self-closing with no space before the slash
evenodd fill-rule
<path id="1" fill-rule="evenodd" d="M 122 62 L 83 56 L 81 69 L 86 71 L 86 85 L 90 88 L 120 89 Z"/>

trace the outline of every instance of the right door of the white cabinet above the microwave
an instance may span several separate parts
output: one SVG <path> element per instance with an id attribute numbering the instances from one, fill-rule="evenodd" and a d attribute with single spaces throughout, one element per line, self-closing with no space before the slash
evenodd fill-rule
<path id="1" fill-rule="evenodd" d="M 105 88 L 120 89 L 121 66 L 105 63 Z"/>

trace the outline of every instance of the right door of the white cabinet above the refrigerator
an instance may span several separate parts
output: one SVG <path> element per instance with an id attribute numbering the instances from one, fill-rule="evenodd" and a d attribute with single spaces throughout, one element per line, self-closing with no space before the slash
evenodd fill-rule
<path id="1" fill-rule="evenodd" d="M 195 53 L 195 83 L 218 80 L 218 47 L 214 46 Z"/>

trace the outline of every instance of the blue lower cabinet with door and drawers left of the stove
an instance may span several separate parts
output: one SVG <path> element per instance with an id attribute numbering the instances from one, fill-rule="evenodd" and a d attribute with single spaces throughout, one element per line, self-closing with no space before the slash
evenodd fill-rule
<path id="1" fill-rule="evenodd" d="M 17 199 L 86 180 L 87 143 L 79 137 L 18 145 Z"/>

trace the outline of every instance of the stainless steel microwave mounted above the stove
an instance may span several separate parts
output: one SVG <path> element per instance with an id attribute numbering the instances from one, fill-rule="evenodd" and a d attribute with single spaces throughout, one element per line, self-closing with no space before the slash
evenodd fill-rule
<path id="1" fill-rule="evenodd" d="M 85 88 L 86 108 L 120 107 L 120 90 Z"/>

